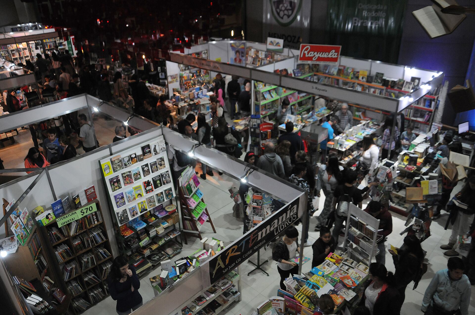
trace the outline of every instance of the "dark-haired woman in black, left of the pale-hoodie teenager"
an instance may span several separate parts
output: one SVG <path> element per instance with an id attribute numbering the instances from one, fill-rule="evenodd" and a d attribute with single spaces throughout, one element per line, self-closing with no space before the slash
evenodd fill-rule
<path id="1" fill-rule="evenodd" d="M 404 237 L 401 248 L 396 248 L 396 252 L 389 250 L 394 261 L 394 276 L 396 277 L 396 288 L 399 291 L 400 304 L 406 298 L 406 287 L 414 281 L 414 288 L 417 288 L 422 277 L 422 262 L 424 261 L 424 251 L 416 235 Z"/>

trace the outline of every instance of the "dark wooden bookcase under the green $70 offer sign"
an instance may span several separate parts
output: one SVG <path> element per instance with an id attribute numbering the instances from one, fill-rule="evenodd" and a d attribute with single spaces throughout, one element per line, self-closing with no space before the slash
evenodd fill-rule
<path id="1" fill-rule="evenodd" d="M 113 258 L 99 201 L 75 211 L 84 208 L 97 210 L 61 227 L 62 216 L 38 226 L 44 250 L 51 253 L 50 268 L 71 295 L 69 311 L 74 315 L 109 295 L 105 280 Z"/>

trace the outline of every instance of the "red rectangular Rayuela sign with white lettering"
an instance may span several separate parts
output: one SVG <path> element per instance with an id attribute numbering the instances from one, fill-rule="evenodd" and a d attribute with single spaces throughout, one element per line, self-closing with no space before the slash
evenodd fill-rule
<path id="1" fill-rule="evenodd" d="M 300 44 L 299 63 L 338 63 L 342 46 Z"/>

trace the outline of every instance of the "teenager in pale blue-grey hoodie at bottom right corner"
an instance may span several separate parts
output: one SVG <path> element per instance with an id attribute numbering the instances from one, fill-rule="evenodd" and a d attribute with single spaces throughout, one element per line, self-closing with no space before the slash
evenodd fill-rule
<path id="1" fill-rule="evenodd" d="M 468 315 L 471 287 L 464 271 L 462 259 L 450 257 L 447 269 L 437 271 L 430 281 L 420 309 L 426 315 Z"/>

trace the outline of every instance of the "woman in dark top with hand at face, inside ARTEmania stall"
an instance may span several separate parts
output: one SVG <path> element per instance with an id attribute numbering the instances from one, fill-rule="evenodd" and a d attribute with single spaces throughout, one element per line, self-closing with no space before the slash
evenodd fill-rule
<path id="1" fill-rule="evenodd" d="M 112 269 L 107 277 L 107 285 L 111 297 L 117 301 L 115 310 L 119 315 L 128 315 L 142 306 L 142 296 L 139 293 L 140 280 L 135 267 L 123 256 L 115 257 Z"/>

